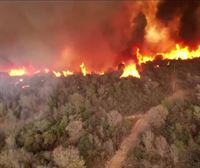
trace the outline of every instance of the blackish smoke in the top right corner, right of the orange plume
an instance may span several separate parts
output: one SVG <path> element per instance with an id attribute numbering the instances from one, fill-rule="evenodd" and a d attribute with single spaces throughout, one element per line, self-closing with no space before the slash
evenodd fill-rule
<path id="1" fill-rule="evenodd" d="M 200 17 L 197 10 L 200 7 L 198 0 L 162 0 L 158 4 L 157 18 L 168 23 L 177 15 L 180 15 L 180 25 L 177 40 L 186 44 L 195 44 L 199 42 L 199 21 Z M 174 25 L 178 26 L 178 25 Z"/>

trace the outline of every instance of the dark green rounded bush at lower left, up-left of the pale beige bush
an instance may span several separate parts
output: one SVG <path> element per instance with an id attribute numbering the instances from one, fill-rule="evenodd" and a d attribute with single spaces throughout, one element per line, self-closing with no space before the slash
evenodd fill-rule
<path id="1" fill-rule="evenodd" d="M 46 120 L 27 124 L 16 135 L 16 145 L 33 153 L 50 150 L 56 143 L 58 135 L 61 135 L 58 126 L 58 124 L 52 125 L 52 122 Z"/>

